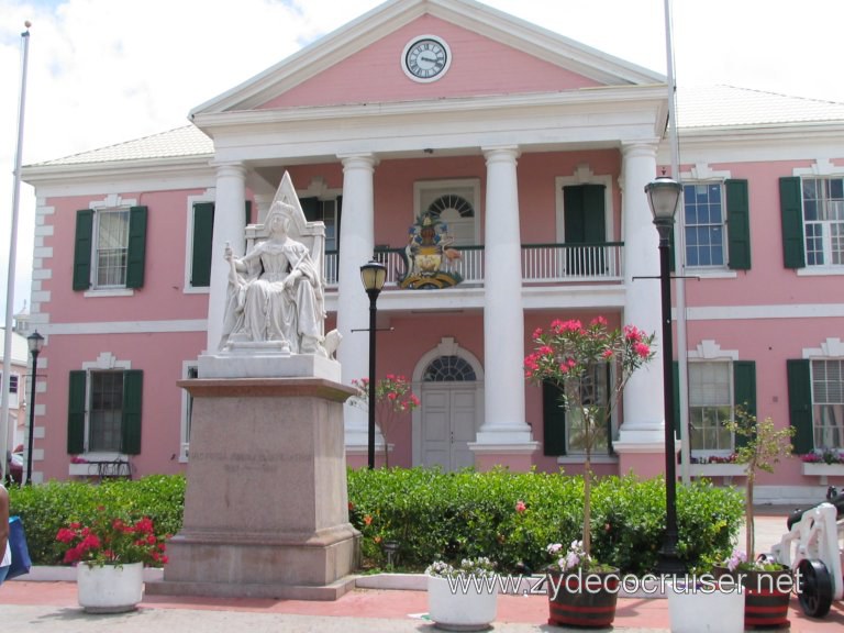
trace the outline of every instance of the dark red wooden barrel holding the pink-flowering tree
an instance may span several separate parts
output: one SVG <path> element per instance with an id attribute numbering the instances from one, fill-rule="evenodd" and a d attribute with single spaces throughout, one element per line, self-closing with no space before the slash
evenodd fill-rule
<path id="1" fill-rule="evenodd" d="M 606 629 L 615 619 L 618 569 L 560 574 L 548 571 L 548 624 Z"/>

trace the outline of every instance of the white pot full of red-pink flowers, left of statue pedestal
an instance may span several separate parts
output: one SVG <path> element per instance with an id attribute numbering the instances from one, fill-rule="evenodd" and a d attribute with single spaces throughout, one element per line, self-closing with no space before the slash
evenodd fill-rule
<path id="1" fill-rule="evenodd" d="M 89 613 L 133 610 L 143 598 L 144 566 L 167 563 L 165 538 L 151 519 L 131 521 L 103 508 L 89 524 L 73 522 L 56 534 L 67 547 L 64 562 L 77 566 L 77 597 Z"/>

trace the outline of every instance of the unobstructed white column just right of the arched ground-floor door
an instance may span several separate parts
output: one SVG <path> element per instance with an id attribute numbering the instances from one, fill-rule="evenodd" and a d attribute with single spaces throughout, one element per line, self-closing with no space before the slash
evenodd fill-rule
<path id="1" fill-rule="evenodd" d="M 484 246 L 484 424 L 479 445 L 533 442 L 524 415 L 524 312 L 519 230 L 517 147 L 485 149 L 487 203 Z M 513 448 L 517 448 L 513 446 Z"/>

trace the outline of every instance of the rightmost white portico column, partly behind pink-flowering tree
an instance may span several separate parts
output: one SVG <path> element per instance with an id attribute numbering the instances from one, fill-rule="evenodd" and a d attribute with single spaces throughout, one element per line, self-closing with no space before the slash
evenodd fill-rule
<path id="1" fill-rule="evenodd" d="M 659 234 L 645 196 L 645 185 L 656 176 L 656 142 L 623 145 L 624 323 L 656 332 L 657 345 L 654 359 L 624 389 L 624 424 L 613 443 L 620 453 L 665 451 Z"/>

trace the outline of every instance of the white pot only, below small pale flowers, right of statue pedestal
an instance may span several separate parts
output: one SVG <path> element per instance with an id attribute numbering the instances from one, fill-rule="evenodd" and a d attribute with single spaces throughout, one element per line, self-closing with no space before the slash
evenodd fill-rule
<path id="1" fill-rule="evenodd" d="M 427 577 L 427 614 L 437 629 L 446 631 L 484 631 L 496 619 L 498 609 L 498 582 L 489 587 L 491 579 Z"/>

